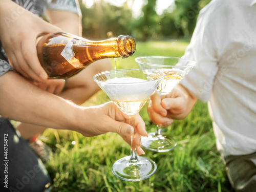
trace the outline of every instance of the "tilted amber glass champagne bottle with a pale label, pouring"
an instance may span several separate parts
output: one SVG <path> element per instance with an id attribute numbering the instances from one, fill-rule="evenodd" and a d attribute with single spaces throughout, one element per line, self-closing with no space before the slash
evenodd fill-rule
<path id="1" fill-rule="evenodd" d="M 133 55 L 135 49 L 135 41 L 128 35 L 92 41 L 59 32 L 41 37 L 37 43 L 37 56 L 49 78 L 66 79 L 96 60 L 126 58 Z"/>

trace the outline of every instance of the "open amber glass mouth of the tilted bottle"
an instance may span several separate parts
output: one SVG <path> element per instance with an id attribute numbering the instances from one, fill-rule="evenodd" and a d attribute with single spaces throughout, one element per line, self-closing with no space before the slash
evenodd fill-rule
<path id="1" fill-rule="evenodd" d="M 136 50 L 136 44 L 133 37 L 129 35 L 119 35 L 117 44 L 119 45 L 119 53 L 122 58 L 129 57 L 134 54 Z"/>

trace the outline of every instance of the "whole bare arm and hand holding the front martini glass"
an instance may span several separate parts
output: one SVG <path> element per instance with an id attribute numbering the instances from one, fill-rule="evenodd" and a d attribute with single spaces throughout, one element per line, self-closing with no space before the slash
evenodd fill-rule
<path id="1" fill-rule="evenodd" d="M 84 108 L 37 88 L 13 71 L 0 77 L 0 114 L 16 121 L 77 131 L 84 136 L 115 132 L 128 143 L 135 128 L 136 149 L 138 154 L 144 153 L 140 147 L 140 136 L 147 134 L 139 115 L 133 128 L 127 124 L 129 117 L 113 102 Z"/>

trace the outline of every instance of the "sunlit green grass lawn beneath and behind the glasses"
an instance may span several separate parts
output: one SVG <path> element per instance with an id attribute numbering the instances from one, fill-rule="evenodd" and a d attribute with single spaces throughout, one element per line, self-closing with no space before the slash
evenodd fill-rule
<path id="1" fill-rule="evenodd" d="M 135 54 L 117 59 L 116 66 L 138 68 L 134 59 L 143 55 L 182 56 L 187 45 L 182 40 L 138 42 Z M 99 91 L 83 105 L 109 100 Z M 155 131 L 145 106 L 140 115 L 147 131 Z M 156 173 L 143 181 L 126 182 L 111 172 L 117 159 L 130 154 L 130 146 L 117 134 L 87 138 L 71 131 L 46 130 L 46 143 L 53 148 L 53 156 L 46 165 L 53 179 L 52 191 L 232 191 L 216 149 L 206 103 L 197 102 L 184 120 L 175 120 L 165 132 L 177 139 L 175 150 L 166 153 L 145 150 L 145 156 L 157 163 Z"/>

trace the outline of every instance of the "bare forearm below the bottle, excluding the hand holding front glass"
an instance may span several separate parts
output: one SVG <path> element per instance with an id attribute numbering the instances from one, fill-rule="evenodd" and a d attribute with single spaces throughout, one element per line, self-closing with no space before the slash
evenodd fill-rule
<path id="1" fill-rule="evenodd" d="M 0 77 L 0 114 L 26 123 L 72 129 L 78 106 L 42 91 L 15 72 Z"/>

